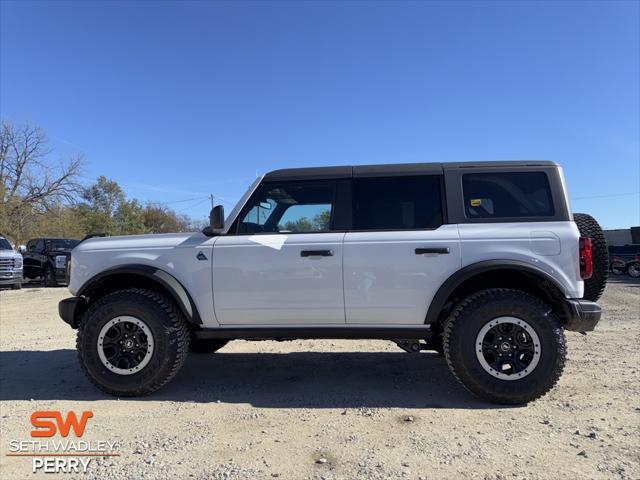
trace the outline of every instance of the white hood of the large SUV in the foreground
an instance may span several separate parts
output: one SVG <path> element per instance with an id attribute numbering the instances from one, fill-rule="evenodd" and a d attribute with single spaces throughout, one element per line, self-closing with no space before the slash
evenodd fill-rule
<path id="1" fill-rule="evenodd" d="M 201 232 L 162 233 L 151 235 L 125 235 L 120 237 L 94 237 L 80 243 L 74 252 L 92 250 L 140 250 L 146 248 L 180 248 L 202 242 Z"/>

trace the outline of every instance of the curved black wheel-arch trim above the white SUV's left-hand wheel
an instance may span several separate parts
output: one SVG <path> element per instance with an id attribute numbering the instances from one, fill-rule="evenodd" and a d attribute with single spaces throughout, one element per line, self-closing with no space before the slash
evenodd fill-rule
<path id="1" fill-rule="evenodd" d="M 91 297 L 91 292 L 93 290 L 98 288 L 109 277 L 113 277 L 115 275 L 137 275 L 159 284 L 171 295 L 189 323 L 202 325 L 202 319 L 200 318 L 198 309 L 193 302 L 191 295 L 187 292 L 187 289 L 184 288 L 180 281 L 170 273 L 162 270 L 161 268 L 152 267 L 150 265 L 120 265 L 118 267 L 104 270 L 85 282 L 84 285 L 80 287 L 77 296 Z"/>

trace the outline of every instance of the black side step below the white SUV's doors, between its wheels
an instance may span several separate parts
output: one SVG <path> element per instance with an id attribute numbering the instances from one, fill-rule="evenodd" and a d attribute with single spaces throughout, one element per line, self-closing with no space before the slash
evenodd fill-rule
<path id="1" fill-rule="evenodd" d="M 433 333 L 430 325 L 415 327 L 219 327 L 195 330 L 196 338 L 224 338 L 228 340 L 295 340 L 295 339 L 353 339 L 394 340 L 401 338 L 424 340 Z"/>

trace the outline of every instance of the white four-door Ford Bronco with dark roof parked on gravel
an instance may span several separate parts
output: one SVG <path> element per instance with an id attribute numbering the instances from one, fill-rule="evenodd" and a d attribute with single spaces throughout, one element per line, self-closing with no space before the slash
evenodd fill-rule
<path id="1" fill-rule="evenodd" d="M 553 162 L 276 170 L 202 232 L 80 243 L 59 312 L 112 395 L 230 340 L 388 339 L 518 404 L 557 382 L 564 330 L 598 323 L 606 255 Z"/>

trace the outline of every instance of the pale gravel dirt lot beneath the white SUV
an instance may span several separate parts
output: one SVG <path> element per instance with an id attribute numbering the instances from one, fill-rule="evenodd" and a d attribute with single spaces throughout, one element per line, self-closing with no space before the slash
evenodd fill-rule
<path id="1" fill-rule="evenodd" d="M 382 341 L 233 342 L 192 355 L 151 397 L 110 398 L 80 372 L 57 316 L 67 295 L 0 292 L 3 479 L 32 476 L 29 458 L 6 453 L 31 440 L 35 410 L 91 410 L 83 439 L 119 443 L 89 478 L 640 478 L 640 282 L 629 278 L 607 287 L 596 332 L 567 334 L 558 386 L 517 408 L 475 399 L 436 354 Z"/>

